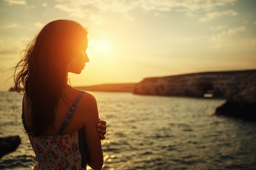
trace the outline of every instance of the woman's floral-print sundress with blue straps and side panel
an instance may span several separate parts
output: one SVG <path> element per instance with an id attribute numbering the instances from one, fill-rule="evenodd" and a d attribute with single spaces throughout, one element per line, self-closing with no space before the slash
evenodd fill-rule
<path id="1" fill-rule="evenodd" d="M 65 129 L 84 93 L 85 91 L 79 92 L 57 136 L 41 135 L 40 137 L 33 137 L 29 135 L 37 159 L 34 170 L 86 170 L 87 147 L 83 129 L 64 135 Z M 23 107 L 22 123 L 25 130 L 27 130 Z"/>

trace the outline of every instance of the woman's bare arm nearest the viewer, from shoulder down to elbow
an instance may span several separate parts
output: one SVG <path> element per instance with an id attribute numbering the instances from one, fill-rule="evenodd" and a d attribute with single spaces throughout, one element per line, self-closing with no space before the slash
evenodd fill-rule
<path id="1" fill-rule="evenodd" d="M 101 170 L 103 165 L 103 154 L 101 141 L 97 132 L 99 121 L 97 102 L 93 95 L 85 93 L 82 98 L 85 113 L 83 115 L 85 141 L 88 148 L 87 164 L 94 170 Z"/>

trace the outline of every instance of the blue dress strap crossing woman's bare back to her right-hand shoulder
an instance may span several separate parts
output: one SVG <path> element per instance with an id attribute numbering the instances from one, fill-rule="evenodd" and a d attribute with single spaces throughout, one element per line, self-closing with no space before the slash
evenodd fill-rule
<path id="1" fill-rule="evenodd" d="M 67 112 L 67 115 L 66 115 L 66 117 L 65 117 L 65 119 L 64 119 L 64 121 L 61 125 L 61 129 L 58 132 L 58 135 L 60 135 L 60 136 L 64 135 L 64 132 L 67 128 L 67 125 L 70 122 L 70 119 L 72 118 L 74 112 L 76 111 L 76 108 L 77 108 L 77 106 L 78 106 L 78 104 L 79 104 L 79 102 L 80 102 L 84 93 L 85 93 L 85 91 L 80 91 L 79 94 L 77 95 L 73 105 L 71 106 L 70 110 Z"/>

